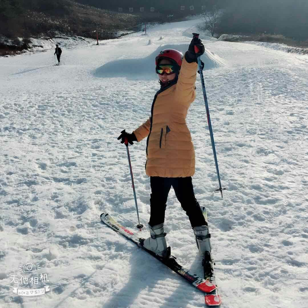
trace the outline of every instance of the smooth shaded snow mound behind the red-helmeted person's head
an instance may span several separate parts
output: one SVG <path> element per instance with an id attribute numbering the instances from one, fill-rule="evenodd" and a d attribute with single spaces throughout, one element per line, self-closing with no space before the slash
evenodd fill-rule
<path id="1" fill-rule="evenodd" d="M 94 75 L 100 78 L 110 77 L 128 77 L 131 79 L 140 79 L 144 76 L 155 79 L 155 57 L 164 49 L 176 49 L 183 53 L 187 51 L 187 44 L 178 45 L 164 45 L 152 52 L 145 58 L 139 59 L 121 59 L 117 61 L 111 61 L 96 69 Z M 201 60 L 204 62 L 204 70 L 210 70 L 224 65 L 217 55 L 209 50 L 205 50 L 204 55 L 201 56 Z M 138 69 L 139 68 L 139 69 Z"/>

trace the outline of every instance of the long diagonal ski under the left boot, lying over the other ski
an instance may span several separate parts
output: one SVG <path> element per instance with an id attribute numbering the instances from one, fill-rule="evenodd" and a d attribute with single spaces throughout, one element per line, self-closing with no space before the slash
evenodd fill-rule
<path id="1" fill-rule="evenodd" d="M 105 223 L 107 226 L 109 226 L 111 229 L 113 229 L 115 232 L 122 234 L 132 242 L 134 242 L 136 245 L 144 249 L 146 252 L 150 253 L 153 257 L 155 257 L 157 260 L 162 262 L 164 265 L 168 266 L 169 269 L 173 270 L 177 274 L 179 274 L 181 277 L 183 277 L 186 281 L 188 281 L 190 284 L 195 286 L 198 290 L 201 290 L 202 292 L 206 292 L 207 294 L 211 294 L 216 289 L 216 286 L 214 283 L 212 283 L 209 279 L 203 279 L 202 277 L 193 274 L 190 270 L 185 269 L 183 266 L 178 264 L 176 262 L 176 258 L 173 256 L 170 256 L 167 258 L 162 258 L 158 256 L 156 253 L 153 253 L 152 251 L 145 249 L 140 242 L 140 238 L 131 232 L 126 227 L 122 226 L 119 222 L 117 222 L 113 217 L 111 217 L 108 213 L 102 213 L 100 215 L 101 221 Z M 168 249 L 170 249 L 168 247 Z"/>

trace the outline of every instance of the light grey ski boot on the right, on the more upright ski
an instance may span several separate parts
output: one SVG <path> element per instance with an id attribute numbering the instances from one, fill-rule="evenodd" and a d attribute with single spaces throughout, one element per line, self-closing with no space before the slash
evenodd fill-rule
<path id="1" fill-rule="evenodd" d="M 204 274 L 211 276 L 213 275 L 213 265 L 215 265 L 215 263 L 211 256 L 212 246 L 210 242 L 211 234 L 209 233 L 209 228 L 207 225 L 197 226 L 193 228 L 193 231 L 195 233 L 197 247 L 202 257 Z"/>

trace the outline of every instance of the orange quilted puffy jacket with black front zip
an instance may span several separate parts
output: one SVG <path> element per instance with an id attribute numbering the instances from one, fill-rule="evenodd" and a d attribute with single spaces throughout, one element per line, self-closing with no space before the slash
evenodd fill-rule
<path id="1" fill-rule="evenodd" d="M 177 83 L 156 93 L 151 117 L 134 131 L 138 142 L 148 136 L 148 176 L 186 177 L 195 173 L 195 151 L 185 119 L 196 97 L 197 67 L 197 63 L 183 59 Z"/>

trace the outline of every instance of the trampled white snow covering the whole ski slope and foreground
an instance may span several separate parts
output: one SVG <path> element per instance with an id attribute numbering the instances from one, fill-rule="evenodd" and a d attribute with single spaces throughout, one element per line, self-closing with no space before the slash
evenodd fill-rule
<path id="1" fill-rule="evenodd" d="M 54 49 L 0 58 L 1 308 L 204 307 L 200 291 L 99 219 L 107 212 L 148 236 L 146 227 L 136 229 L 126 148 L 117 137 L 150 115 L 159 89 L 155 55 L 166 46 L 185 51 L 198 22 L 160 25 L 99 46 L 63 47 L 59 67 Z M 201 38 L 224 199 L 214 193 L 199 76 L 187 124 L 221 307 L 305 308 L 308 56 Z M 145 147 L 143 140 L 129 149 L 146 226 Z M 193 231 L 173 190 L 165 229 L 172 255 L 202 275 Z M 40 296 L 14 293 L 42 288 Z"/>

